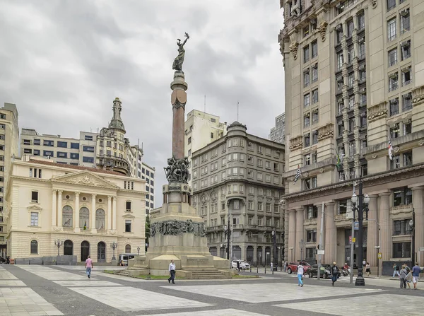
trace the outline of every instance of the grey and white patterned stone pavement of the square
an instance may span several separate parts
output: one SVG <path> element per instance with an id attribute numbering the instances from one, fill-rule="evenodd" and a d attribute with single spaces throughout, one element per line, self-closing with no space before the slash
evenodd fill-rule
<path id="1" fill-rule="evenodd" d="M 401 290 L 396 281 L 367 279 L 367 286 L 358 288 L 348 279 L 333 287 L 305 278 L 301 288 L 293 276 L 276 273 L 170 285 L 103 269 L 114 267 L 95 267 L 88 279 L 81 266 L 0 266 L 0 315 L 390 316 L 399 315 L 400 307 L 403 316 L 422 315 L 424 291 Z"/>

